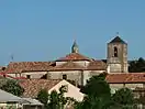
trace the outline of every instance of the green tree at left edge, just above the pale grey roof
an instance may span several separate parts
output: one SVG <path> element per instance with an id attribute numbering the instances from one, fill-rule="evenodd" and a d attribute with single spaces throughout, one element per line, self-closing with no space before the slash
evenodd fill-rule
<path id="1" fill-rule="evenodd" d="M 22 96 L 24 92 L 24 89 L 19 85 L 19 81 L 13 79 L 8 79 L 5 84 L 0 86 L 0 89 L 11 92 L 15 96 Z"/>

